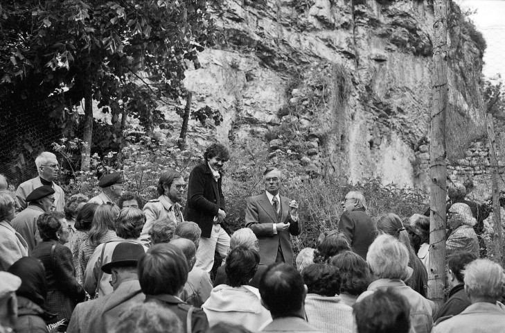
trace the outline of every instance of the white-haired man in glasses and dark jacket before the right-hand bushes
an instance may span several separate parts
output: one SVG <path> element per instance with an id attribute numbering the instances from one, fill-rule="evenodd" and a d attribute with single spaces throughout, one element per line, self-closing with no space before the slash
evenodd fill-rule
<path id="1" fill-rule="evenodd" d="M 366 260 L 366 253 L 375 239 L 372 219 L 366 214 L 366 200 L 360 191 L 350 191 L 342 201 L 339 231 L 344 232 L 354 252 Z"/>

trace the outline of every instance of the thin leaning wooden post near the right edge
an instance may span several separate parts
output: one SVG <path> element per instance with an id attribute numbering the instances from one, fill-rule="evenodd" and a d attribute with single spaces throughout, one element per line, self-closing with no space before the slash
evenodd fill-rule
<path id="1" fill-rule="evenodd" d="M 496 145 L 495 139 L 495 125 L 493 124 L 493 114 L 488 113 L 487 129 L 488 129 L 488 140 L 489 140 L 489 155 L 491 160 L 491 165 L 493 166 L 493 224 L 494 224 L 494 234 L 493 242 L 495 243 L 495 261 L 502 264 L 503 259 L 503 243 L 502 243 L 502 216 L 500 216 L 499 211 L 499 188 L 498 188 L 498 158 L 497 151 L 498 147 Z"/>

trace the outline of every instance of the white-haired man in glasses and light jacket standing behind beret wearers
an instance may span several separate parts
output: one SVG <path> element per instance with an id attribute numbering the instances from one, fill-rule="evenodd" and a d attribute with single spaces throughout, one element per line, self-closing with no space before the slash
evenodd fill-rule
<path id="1" fill-rule="evenodd" d="M 16 200 L 18 207 L 16 212 L 19 213 L 26 208 L 28 205 L 26 203 L 26 197 L 28 194 L 32 193 L 34 189 L 41 187 L 43 185 L 53 187 L 55 212 L 63 212 L 65 207 L 65 193 L 61 187 L 56 185 L 53 180 L 58 176 L 58 171 L 60 171 L 60 164 L 56 159 L 56 155 L 44 151 L 35 158 L 35 165 L 37 165 L 37 171 L 39 176 L 26 180 L 26 182 L 21 183 L 16 190 Z"/>

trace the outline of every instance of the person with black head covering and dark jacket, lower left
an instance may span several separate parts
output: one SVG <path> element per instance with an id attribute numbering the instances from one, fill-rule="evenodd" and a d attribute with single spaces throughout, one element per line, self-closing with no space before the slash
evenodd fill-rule
<path id="1" fill-rule="evenodd" d="M 8 273 L 21 279 L 16 291 L 17 333 L 46 333 L 46 325 L 55 321 L 56 315 L 46 311 L 47 281 L 44 265 L 33 257 L 22 257 L 12 264 Z"/>

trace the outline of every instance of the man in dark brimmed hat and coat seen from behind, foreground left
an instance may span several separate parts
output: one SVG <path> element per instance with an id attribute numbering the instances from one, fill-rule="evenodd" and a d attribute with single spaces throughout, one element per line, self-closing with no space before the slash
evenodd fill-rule
<path id="1" fill-rule="evenodd" d="M 127 241 L 114 248 L 111 262 L 102 266 L 104 273 L 111 274 L 110 283 L 114 292 L 78 304 L 73 310 L 67 332 L 113 332 L 119 316 L 132 305 L 145 300 L 136 269 L 144 253 L 141 244 Z"/>

